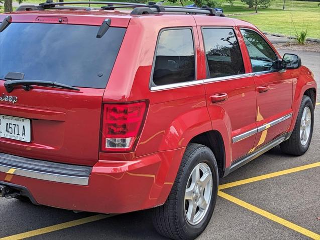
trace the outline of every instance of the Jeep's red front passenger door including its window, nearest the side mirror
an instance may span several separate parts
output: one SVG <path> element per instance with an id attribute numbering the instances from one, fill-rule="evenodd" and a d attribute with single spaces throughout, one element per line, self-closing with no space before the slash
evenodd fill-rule
<path id="1" fill-rule="evenodd" d="M 257 94 L 257 138 L 254 148 L 287 131 L 292 117 L 292 78 L 280 70 L 278 56 L 268 42 L 252 29 L 241 29 Z"/>

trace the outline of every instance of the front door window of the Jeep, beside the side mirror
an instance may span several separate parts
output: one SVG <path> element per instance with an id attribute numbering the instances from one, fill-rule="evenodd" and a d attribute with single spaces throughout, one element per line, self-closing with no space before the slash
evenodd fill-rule
<path id="1" fill-rule="evenodd" d="M 241 33 L 247 45 L 253 72 L 273 70 L 278 60 L 269 44 L 254 31 L 241 29 Z"/>

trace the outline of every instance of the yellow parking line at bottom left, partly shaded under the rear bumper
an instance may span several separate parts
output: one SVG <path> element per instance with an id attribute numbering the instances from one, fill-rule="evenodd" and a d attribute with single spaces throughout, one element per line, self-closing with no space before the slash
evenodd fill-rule
<path id="1" fill-rule="evenodd" d="M 108 218 L 110 216 L 112 216 L 112 215 L 98 214 L 98 215 L 94 215 L 94 216 L 84 217 L 84 218 L 81 218 L 81 219 L 77 219 L 77 220 L 73 220 L 73 221 L 67 221 L 67 222 L 60 223 L 60 224 L 53 225 L 53 226 L 47 226 L 47 227 L 39 228 L 39 229 L 32 230 L 32 231 L 27 231 L 27 232 L 23 232 L 23 233 L 11 235 L 11 236 L 6 236 L 6 237 L 3 237 L 3 238 L 0 238 L 0 240 L 24 239 L 24 238 L 27 238 L 27 237 L 41 235 L 41 234 L 45 234 L 45 233 L 48 233 L 48 232 L 62 230 L 62 229 L 68 228 L 68 227 L 78 226 L 78 225 L 89 223 L 89 222 L 92 222 L 92 221 L 101 220 L 101 219 L 104 219 L 104 218 Z"/>

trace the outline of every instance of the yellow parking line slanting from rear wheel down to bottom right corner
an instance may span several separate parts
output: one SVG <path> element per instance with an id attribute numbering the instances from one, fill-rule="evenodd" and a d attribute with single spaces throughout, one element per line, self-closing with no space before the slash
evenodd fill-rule
<path id="1" fill-rule="evenodd" d="M 301 234 L 306 235 L 306 236 L 308 236 L 308 237 L 310 237 L 312 239 L 320 240 L 320 235 L 319 234 L 317 234 L 315 232 L 312 232 L 312 231 L 310 231 L 308 229 L 305 229 L 305 228 L 303 228 L 301 226 L 298 226 L 298 225 L 296 225 L 296 224 L 294 224 L 294 223 L 292 223 L 290 221 L 287 221 L 287 220 L 285 220 L 285 219 L 283 219 L 281 217 L 278 217 L 278 216 L 276 216 L 276 215 L 274 215 L 274 214 L 272 214 L 270 212 L 262 210 L 261 208 L 258 208 L 258 207 L 254 206 L 254 205 L 251 205 L 251 204 L 249 204 L 249 203 L 247 203 L 245 201 L 242 201 L 239 198 L 231 196 L 231 195 L 229 195 L 229 194 L 227 194 L 225 192 L 222 192 L 222 191 L 218 191 L 218 196 L 221 196 L 221 197 L 223 197 L 223 198 L 225 198 L 225 199 L 227 199 L 227 200 L 229 200 L 229 201 L 231 201 L 233 203 L 236 203 L 236 204 L 238 204 L 238 205 L 240 205 L 240 206 L 242 206 L 244 208 L 247 208 L 250 211 L 253 211 L 253 212 L 255 212 L 255 213 L 257 213 L 257 214 L 259 214 L 261 216 L 264 216 L 264 217 L 266 217 L 266 218 L 268 218 L 268 219 L 270 219 L 272 221 L 275 221 L 275 222 L 277 222 L 277 223 L 279 223 L 281 225 L 284 225 L 284 226 L 286 226 L 286 227 L 288 227 L 288 228 L 290 228 L 292 230 L 300 232 Z"/>

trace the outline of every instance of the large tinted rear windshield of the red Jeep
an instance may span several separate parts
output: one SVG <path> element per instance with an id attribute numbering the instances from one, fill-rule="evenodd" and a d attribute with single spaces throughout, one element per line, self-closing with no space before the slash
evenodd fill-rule
<path id="1" fill-rule="evenodd" d="M 0 79 L 8 72 L 25 80 L 105 88 L 126 29 L 66 24 L 12 23 L 0 33 Z"/>

